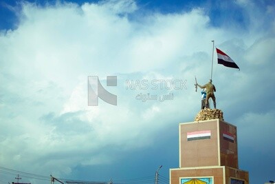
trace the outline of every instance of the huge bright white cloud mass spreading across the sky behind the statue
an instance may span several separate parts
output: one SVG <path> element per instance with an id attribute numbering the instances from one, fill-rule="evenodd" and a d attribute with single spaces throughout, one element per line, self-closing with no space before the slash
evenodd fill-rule
<path id="1" fill-rule="evenodd" d="M 228 119 L 252 122 L 247 132 L 240 126 L 243 134 L 257 130 L 261 119 L 268 122 L 262 132 L 272 129 L 274 100 L 265 81 L 274 79 L 274 34 L 267 36 L 256 25 L 251 28 L 258 32 L 245 37 L 213 28 L 203 9 L 128 18 L 139 10 L 135 1 L 23 3 L 17 30 L 0 37 L 2 165 L 20 163 L 32 165 L 30 172 L 62 175 L 79 164 L 111 164 L 115 156 L 103 152 L 106 147 L 122 155 L 152 146 L 158 132 L 171 123 L 177 127 L 173 121 L 192 121 L 199 111 L 194 75 L 201 84 L 208 81 L 212 39 L 234 50 L 232 58 L 241 66 L 239 72 L 215 64 L 217 108 Z M 116 74 L 118 86 L 107 87 L 105 77 Z M 98 107 L 87 106 L 89 75 L 98 75 L 104 88 L 118 95 L 118 106 L 101 100 Z M 182 79 L 187 90 L 126 90 L 131 79 Z M 173 92 L 174 99 L 137 101 L 140 92 Z M 263 113 L 256 113 L 259 109 Z M 239 114 L 229 113 L 234 110 Z"/>

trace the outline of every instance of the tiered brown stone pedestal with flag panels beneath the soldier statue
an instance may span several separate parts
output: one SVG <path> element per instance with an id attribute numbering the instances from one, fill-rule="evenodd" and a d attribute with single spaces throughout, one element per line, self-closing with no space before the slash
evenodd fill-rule
<path id="1" fill-rule="evenodd" d="M 179 124 L 179 168 L 170 184 L 248 184 L 239 170 L 236 126 L 221 119 Z"/>

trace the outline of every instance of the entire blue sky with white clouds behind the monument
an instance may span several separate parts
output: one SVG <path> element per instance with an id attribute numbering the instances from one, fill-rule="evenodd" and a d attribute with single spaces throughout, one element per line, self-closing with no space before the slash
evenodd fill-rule
<path id="1" fill-rule="evenodd" d="M 200 110 L 194 76 L 210 79 L 212 40 L 241 68 L 214 52 L 239 167 L 252 184 L 275 180 L 274 17 L 274 0 L 1 1 L 0 183 L 154 183 L 160 165 L 168 183 L 178 125 Z M 88 76 L 117 105 L 89 106 Z"/>

